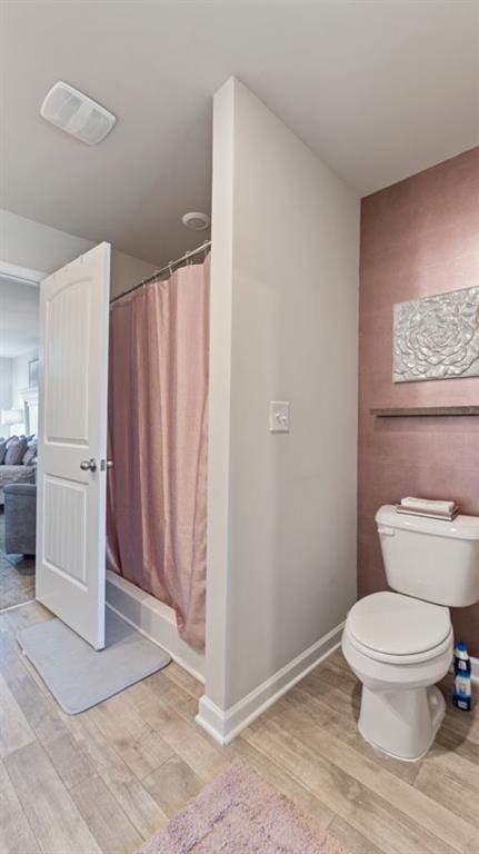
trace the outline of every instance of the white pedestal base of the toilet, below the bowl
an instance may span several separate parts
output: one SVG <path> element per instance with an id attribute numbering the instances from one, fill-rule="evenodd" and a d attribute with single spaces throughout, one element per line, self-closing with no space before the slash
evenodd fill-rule
<path id="1" fill-rule="evenodd" d="M 358 729 L 388 756 L 417 762 L 429 751 L 445 713 L 445 698 L 436 685 L 387 693 L 363 685 Z"/>

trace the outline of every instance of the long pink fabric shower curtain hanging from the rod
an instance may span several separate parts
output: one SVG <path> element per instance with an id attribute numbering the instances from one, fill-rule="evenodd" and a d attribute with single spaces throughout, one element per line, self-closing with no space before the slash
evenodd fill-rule
<path id="1" fill-rule="evenodd" d="M 107 565 L 204 646 L 209 258 L 112 306 Z"/>

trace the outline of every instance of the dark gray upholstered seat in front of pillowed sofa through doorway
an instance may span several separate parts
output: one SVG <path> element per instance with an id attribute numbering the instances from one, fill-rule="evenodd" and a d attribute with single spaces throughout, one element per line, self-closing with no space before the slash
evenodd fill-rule
<path id="1" fill-rule="evenodd" d="M 4 487 L 4 550 L 7 555 L 34 555 L 37 534 L 36 484 Z"/>

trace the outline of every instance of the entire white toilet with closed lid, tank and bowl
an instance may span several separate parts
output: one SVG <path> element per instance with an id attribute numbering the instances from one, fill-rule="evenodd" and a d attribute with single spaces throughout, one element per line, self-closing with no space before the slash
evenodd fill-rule
<path id="1" fill-rule="evenodd" d="M 376 747 L 415 761 L 432 744 L 445 714 L 435 686 L 453 649 L 449 607 L 479 602 L 479 517 L 453 522 L 376 515 L 388 584 L 353 605 L 342 652 L 362 682 L 359 732 Z"/>

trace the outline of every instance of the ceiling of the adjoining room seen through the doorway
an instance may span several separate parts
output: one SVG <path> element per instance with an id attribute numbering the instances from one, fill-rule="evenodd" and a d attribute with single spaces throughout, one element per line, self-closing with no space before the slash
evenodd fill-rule
<path id="1" fill-rule="evenodd" d="M 14 359 L 39 344 L 39 290 L 0 276 L 0 357 Z"/>

